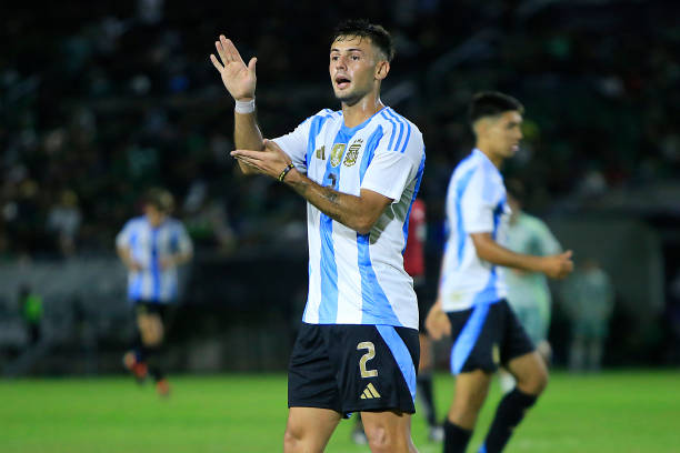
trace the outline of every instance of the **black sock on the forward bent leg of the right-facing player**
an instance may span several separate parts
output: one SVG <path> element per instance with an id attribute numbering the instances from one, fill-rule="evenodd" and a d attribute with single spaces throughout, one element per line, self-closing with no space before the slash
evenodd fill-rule
<path id="1" fill-rule="evenodd" d="M 484 444 L 479 451 L 483 453 L 501 452 L 510 440 L 512 431 L 524 417 L 524 412 L 536 403 L 537 399 L 538 396 L 523 393 L 517 387 L 503 396 L 496 410 L 496 416 Z"/>

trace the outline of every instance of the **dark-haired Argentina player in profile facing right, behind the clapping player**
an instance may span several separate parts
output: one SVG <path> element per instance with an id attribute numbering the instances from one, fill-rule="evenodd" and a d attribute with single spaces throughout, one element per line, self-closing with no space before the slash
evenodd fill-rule
<path id="1" fill-rule="evenodd" d="M 444 453 L 464 452 L 498 366 L 517 380 L 501 400 L 480 453 L 503 450 L 524 412 L 548 383 L 548 370 L 506 301 L 500 266 L 563 278 L 571 251 L 536 256 L 510 251 L 503 241 L 510 208 L 500 168 L 522 138 L 523 107 L 514 98 L 478 93 L 470 104 L 477 139 L 451 177 L 447 194 L 449 238 L 438 301 L 426 325 L 437 339 L 450 333 L 456 393 L 444 423 Z"/>

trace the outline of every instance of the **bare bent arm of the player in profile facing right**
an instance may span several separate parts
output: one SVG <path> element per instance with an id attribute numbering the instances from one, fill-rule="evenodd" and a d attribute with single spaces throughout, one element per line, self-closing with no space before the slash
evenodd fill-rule
<path id="1" fill-rule="evenodd" d="M 542 272 L 551 279 L 563 279 L 573 270 L 571 250 L 548 256 L 536 256 L 506 249 L 491 238 L 491 233 L 470 233 L 470 238 L 477 255 L 497 265 Z"/>

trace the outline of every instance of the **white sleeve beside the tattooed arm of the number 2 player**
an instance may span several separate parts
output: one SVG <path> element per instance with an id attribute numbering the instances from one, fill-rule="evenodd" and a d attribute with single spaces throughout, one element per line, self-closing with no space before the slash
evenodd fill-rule
<path id="1" fill-rule="evenodd" d="M 424 144 L 422 134 L 414 125 L 403 152 L 389 150 L 389 138 L 383 135 L 376 148 L 373 159 L 366 170 L 361 189 L 372 190 L 392 200 L 401 200 L 407 185 L 418 175 L 424 164 Z"/>

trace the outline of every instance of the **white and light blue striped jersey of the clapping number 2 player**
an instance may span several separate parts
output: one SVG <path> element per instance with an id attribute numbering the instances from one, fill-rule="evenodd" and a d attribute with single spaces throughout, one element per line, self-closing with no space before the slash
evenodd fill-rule
<path id="1" fill-rule="evenodd" d="M 424 170 L 418 128 L 383 108 L 347 128 L 341 111 L 322 110 L 274 139 L 312 181 L 359 195 L 361 189 L 393 202 L 369 234 L 307 203 L 309 293 L 302 321 L 418 329 L 418 301 L 403 270 L 408 219 Z"/>

